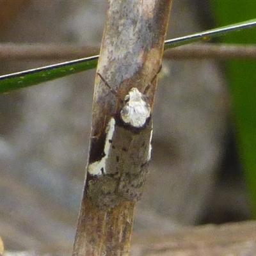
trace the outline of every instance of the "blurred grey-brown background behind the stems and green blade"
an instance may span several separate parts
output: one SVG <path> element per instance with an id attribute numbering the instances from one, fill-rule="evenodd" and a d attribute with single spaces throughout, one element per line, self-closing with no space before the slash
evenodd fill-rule
<path id="1" fill-rule="evenodd" d="M 100 46 L 106 10 L 107 1 L 1 1 L 1 42 Z M 174 0 L 166 38 L 214 28 L 214 17 L 207 1 Z M 57 62 L 2 60 L 0 72 Z M 150 173 L 134 232 L 250 217 L 226 67 L 163 60 Z M 72 248 L 94 77 L 90 70 L 0 95 L 0 236 L 7 250 Z"/>

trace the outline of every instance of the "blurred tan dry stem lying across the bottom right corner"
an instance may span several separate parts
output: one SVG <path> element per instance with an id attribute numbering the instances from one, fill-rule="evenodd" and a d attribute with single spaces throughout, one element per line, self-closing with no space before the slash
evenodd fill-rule
<path id="1" fill-rule="evenodd" d="M 161 230 L 133 236 L 131 255 L 140 256 L 255 256 L 256 221 Z"/>

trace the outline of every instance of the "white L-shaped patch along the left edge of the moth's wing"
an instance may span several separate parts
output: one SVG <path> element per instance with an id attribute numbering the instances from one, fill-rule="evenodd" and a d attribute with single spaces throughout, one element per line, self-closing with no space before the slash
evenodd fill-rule
<path id="1" fill-rule="evenodd" d="M 90 173 L 90 175 L 99 176 L 106 173 L 106 160 L 108 159 L 109 149 L 111 148 L 112 138 L 115 131 L 115 123 L 116 122 L 114 118 L 111 118 L 109 120 L 109 123 L 106 127 L 107 136 L 106 136 L 106 141 L 104 146 L 105 156 L 102 157 L 102 159 L 100 159 L 99 161 L 89 164 L 88 172 Z"/>

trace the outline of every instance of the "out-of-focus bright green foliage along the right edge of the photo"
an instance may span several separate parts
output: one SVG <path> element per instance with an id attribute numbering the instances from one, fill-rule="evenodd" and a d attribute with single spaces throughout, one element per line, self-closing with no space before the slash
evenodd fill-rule
<path id="1" fill-rule="evenodd" d="M 217 26 L 225 26 L 255 17 L 256 1 L 211 0 Z M 225 43 L 256 43 L 256 29 L 229 33 Z M 256 60 L 227 61 L 227 79 L 233 120 L 236 125 L 239 154 L 244 166 L 248 191 L 252 200 L 252 217 L 256 218 Z"/>

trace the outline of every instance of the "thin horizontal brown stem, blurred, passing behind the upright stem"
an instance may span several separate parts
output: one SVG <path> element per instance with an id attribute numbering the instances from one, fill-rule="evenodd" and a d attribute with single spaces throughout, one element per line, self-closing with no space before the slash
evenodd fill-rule
<path id="1" fill-rule="evenodd" d="M 99 47 L 70 44 L 0 44 L 0 60 L 74 60 L 99 54 Z M 163 58 L 188 59 L 253 59 L 255 45 L 189 44 L 164 51 Z"/>

